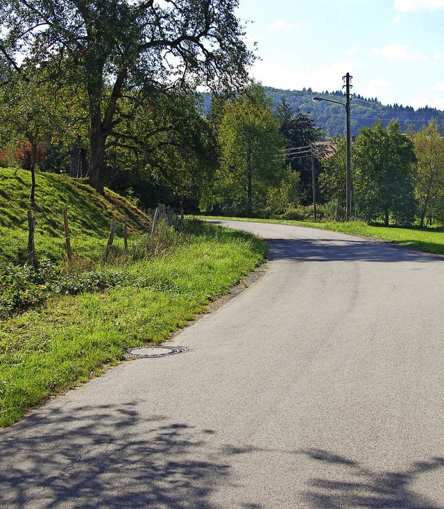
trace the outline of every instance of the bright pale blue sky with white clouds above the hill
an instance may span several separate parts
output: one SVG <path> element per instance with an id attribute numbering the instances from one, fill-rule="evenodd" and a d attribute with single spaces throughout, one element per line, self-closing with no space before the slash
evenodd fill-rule
<path id="1" fill-rule="evenodd" d="M 444 0 L 239 0 L 262 85 L 444 110 Z"/>

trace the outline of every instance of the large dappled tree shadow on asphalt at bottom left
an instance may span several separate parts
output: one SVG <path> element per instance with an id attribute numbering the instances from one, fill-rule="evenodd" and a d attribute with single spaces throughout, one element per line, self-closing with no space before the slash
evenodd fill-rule
<path id="1" fill-rule="evenodd" d="M 3 431 L 0 506 L 203 508 L 229 474 L 198 430 L 137 404 L 35 413 Z"/>

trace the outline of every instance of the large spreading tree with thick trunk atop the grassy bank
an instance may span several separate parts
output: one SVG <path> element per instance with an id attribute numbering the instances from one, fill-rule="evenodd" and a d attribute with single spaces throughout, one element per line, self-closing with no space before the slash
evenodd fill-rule
<path id="1" fill-rule="evenodd" d="M 48 67 L 89 102 L 89 180 L 103 191 L 105 144 L 134 89 L 173 82 L 221 89 L 246 80 L 253 59 L 237 0 L 0 0 L 1 64 Z"/>

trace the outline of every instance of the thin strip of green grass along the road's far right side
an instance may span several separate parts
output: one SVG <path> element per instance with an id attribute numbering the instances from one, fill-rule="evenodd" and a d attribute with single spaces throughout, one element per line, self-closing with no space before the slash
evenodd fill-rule
<path id="1" fill-rule="evenodd" d="M 204 218 L 202 216 L 202 218 Z M 348 233 L 381 239 L 409 248 L 415 248 L 422 252 L 444 255 L 444 231 L 442 228 L 420 229 L 419 227 L 383 227 L 368 225 L 362 221 L 350 221 L 349 223 L 314 223 L 309 221 L 282 221 L 275 219 L 250 219 L 250 218 L 227 218 L 205 217 L 207 219 L 220 219 L 232 221 L 253 221 L 256 223 L 277 223 L 296 225 L 334 232 Z"/>

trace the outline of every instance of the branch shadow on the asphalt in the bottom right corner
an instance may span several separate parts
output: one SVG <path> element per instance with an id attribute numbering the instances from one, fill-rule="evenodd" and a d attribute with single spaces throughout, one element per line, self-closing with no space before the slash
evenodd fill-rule
<path id="1" fill-rule="evenodd" d="M 444 458 L 416 462 L 400 472 L 373 472 L 357 461 L 322 449 L 303 451 L 309 459 L 341 469 L 343 480 L 311 478 L 304 493 L 311 509 L 440 509 L 413 491 L 413 483 L 422 475 L 444 468 Z"/>

